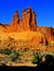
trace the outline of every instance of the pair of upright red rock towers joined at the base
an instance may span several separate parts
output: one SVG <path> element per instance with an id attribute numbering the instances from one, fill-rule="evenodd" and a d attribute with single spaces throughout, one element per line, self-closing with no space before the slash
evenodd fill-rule
<path id="1" fill-rule="evenodd" d="M 22 19 L 19 19 L 17 11 L 15 11 L 10 25 L 11 32 L 36 31 L 35 12 L 30 8 L 22 10 Z"/>

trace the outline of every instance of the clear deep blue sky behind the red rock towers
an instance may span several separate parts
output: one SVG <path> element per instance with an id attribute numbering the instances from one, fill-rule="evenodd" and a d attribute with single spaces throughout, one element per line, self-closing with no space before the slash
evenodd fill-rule
<path id="1" fill-rule="evenodd" d="M 38 26 L 54 27 L 54 0 L 0 0 L 0 23 L 10 24 L 15 10 L 30 7 L 37 14 Z"/>

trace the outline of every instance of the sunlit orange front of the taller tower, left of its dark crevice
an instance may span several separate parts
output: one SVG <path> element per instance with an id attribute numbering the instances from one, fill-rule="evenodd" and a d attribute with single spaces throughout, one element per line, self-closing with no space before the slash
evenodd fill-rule
<path id="1" fill-rule="evenodd" d="M 30 19 L 30 15 L 28 15 L 28 13 L 26 12 L 26 10 L 23 10 L 22 11 L 22 24 L 23 24 L 23 28 L 25 31 L 28 31 L 29 29 L 29 20 Z"/>

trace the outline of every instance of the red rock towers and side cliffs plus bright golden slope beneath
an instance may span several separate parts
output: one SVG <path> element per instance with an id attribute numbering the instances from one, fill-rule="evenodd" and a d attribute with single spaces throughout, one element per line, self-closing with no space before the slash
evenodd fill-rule
<path id="1" fill-rule="evenodd" d="M 38 44 L 46 44 L 46 42 L 54 44 L 54 28 L 37 26 L 36 14 L 29 7 L 22 10 L 21 19 L 15 11 L 11 24 L 0 24 L 0 39 L 6 39 L 10 36 L 15 39 L 32 39 Z"/>

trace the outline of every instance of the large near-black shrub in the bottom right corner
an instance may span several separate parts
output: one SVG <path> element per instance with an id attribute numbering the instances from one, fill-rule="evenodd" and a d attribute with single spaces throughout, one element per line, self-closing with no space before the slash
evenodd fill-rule
<path id="1" fill-rule="evenodd" d="M 44 64 L 45 67 L 46 66 L 54 66 L 54 56 L 45 55 L 43 57 L 44 57 L 44 60 L 41 63 L 39 63 L 40 66 L 41 64 Z"/>

